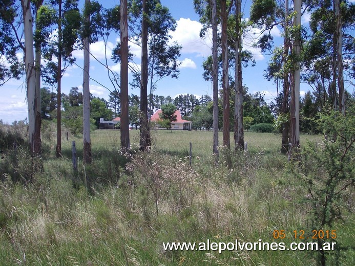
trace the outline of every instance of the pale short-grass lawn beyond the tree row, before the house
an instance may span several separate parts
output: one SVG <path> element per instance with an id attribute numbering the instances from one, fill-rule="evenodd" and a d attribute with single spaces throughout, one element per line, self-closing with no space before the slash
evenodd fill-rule
<path id="1" fill-rule="evenodd" d="M 153 150 L 172 155 L 189 156 L 190 142 L 193 154 L 198 157 L 206 157 L 212 154 L 212 131 L 183 131 L 183 130 L 152 130 Z M 64 136 L 64 134 L 62 135 Z M 72 140 L 76 141 L 78 152 L 82 152 L 82 139 L 71 137 L 69 141 L 62 138 L 62 150 L 69 157 L 71 155 Z M 130 130 L 132 147 L 139 145 L 139 130 Z M 305 140 L 320 142 L 322 136 L 301 135 L 300 142 Z M 278 152 L 281 146 L 281 135 L 274 133 L 245 132 L 244 141 L 250 152 Z M 234 147 L 233 132 L 231 132 L 231 146 Z M 219 145 L 222 145 L 222 132 L 219 132 Z M 118 151 L 120 147 L 120 132 L 117 130 L 96 130 L 91 134 L 91 144 L 94 154 L 100 151 Z M 55 151 L 55 140 L 51 142 L 51 156 Z"/>

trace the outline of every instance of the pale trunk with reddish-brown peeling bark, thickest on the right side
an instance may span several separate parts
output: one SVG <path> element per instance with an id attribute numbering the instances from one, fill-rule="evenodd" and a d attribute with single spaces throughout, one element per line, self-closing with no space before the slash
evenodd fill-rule
<path id="1" fill-rule="evenodd" d="M 297 157 L 300 147 L 300 51 L 301 51 L 301 0 L 294 1 L 296 17 L 294 26 L 297 27 L 297 33 L 294 39 L 293 49 L 296 57 L 293 89 L 291 93 L 291 112 L 290 112 L 290 134 L 291 147 L 290 155 Z"/>

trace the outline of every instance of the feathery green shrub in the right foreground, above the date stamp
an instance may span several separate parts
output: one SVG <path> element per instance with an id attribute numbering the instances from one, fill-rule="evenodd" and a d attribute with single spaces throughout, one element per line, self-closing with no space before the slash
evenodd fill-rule
<path id="1" fill-rule="evenodd" d="M 302 146 L 299 167 L 294 168 L 308 191 L 304 201 L 310 206 L 307 215 L 310 230 L 332 229 L 339 219 L 344 218 L 343 213 L 353 205 L 351 193 L 355 184 L 354 106 L 349 106 L 346 117 L 333 111 L 322 115 L 320 124 L 328 139 L 336 136 L 336 140 L 324 140 L 320 144 L 306 142 Z M 329 239 L 318 239 L 318 243 L 324 241 Z M 337 246 L 347 248 L 338 238 Z M 326 256 L 339 257 L 339 249 L 336 254 L 318 253 L 322 264 Z"/>

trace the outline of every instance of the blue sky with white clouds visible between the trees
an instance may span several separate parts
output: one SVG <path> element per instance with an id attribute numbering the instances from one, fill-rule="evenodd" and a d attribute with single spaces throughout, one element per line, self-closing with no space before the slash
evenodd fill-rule
<path id="1" fill-rule="evenodd" d="M 119 4 L 118 0 L 115 1 L 99 1 L 104 7 L 110 8 L 115 4 Z M 244 13 L 244 18 L 247 19 L 249 16 L 250 4 L 252 1 L 244 1 L 242 6 L 242 12 Z M 193 8 L 193 0 L 161 0 L 162 5 L 170 9 L 171 14 L 177 21 L 177 28 L 175 32 L 171 32 L 173 41 L 177 41 L 181 46 L 181 61 L 180 65 L 180 75 L 178 79 L 173 79 L 170 77 L 163 78 L 157 83 L 157 90 L 154 94 L 175 97 L 179 94 L 195 94 L 197 96 L 208 94 L 212 96 L 212 83 L 203 80 L 202 73 L 202 63 L 203 61 L 211 55 L 212 42 L 210 37 L 201 39 L 199 37 L 199 32 L 202 25 L 199 23 L 199 17 L 195 13 Z M 111 6 L 110 6 L 111 5 Z M 83 1 L 80 0 L 79 8 L 82 9 Z M 302 17 L 302 24 L 307 25 L 309 21 L 309 14 L 306 12 Z M 255 34 L 254 34 L 255 33 Z M 281 43 L 282 37 L 278 29 L 272 31 L 275 43 Z M 268 82 L 263 77 L 263 71 L 267 67 L 267 61 L 269 56 L 262 55 L 257 48 L 252 48 L 250 45 L 252 43 L 253 36 L 258 35 L 257 29 L 252 29 L 251 33 L 245 37 L 243 40 L 244 48 L 250 50 L 256 60 L 256 65 L 249 65 L 247 68 L 243 69 L 243 85 L 248 87 L 249 93 L 263 92 L 265 94 L 264 98 L 266 101 L 272 101 L 276 93 L 276 85 L 273 82 Z M 110 35 L 108 46 L 106 49 L 108 57 L 111 57 L 111 51 L 116 45 L 116 41 L 119 36 L 113 33 Z M 133 60 L 136 65 L 140 64 L 140 48 L 134 43 L 130 43 L 131 51 L 135 54 Z M 101 62 L 105 60 L 105 46 L 103 41 L 99 40 L 96 43 L 92 43 L 90 46 L 91 53 L 99 59 Z M 76 64 L 69 66 L 64 76 L 62 77 L 62 87 L 61 91 L 65 94 L 69 94 L 71 87 L 78 87 L 79 91 L 82 91 L 82 70 L 80 69 L 83 65 L 83 53 L 82 51 L 74 51 L 73 55 L 76 58 Z M 19 53 L 19 57 L 22 54 Z M 120 65 L 114 63 L 110 58 L 108 58 L 108 64 L 112 71 L 119 73 Z M 80 66 L 80 67 L 79 67 Z M 234 75 L 231 71 L 230 75 Z M 109 90 L 113 90 L 113 86 L 108 78 L 107 70 L 95 59 L 91 57 L 90 60 L 90 76 L 92 79 L 98 81 L 99 83 L 91 80 L 90 81 L 90 92 L 100 98 L 109 98 Z M 129 73 L 129 79 L 132 78 L 132 73 Z M 25 88 L 25 78 L 20 80 L 9 80 L 5 85 L 0 87 L 0 119 L 4 123 L 12 123 L 13 121 L 23 120 L 27 117 L 27 102 L 26 102 L 26 88 Z M 41 86 L 48 86 L 44 83 Z M 105 86 L 107 88 L 105 88 Z M 50 90 L 56 92 L 55 87 L 49 86 Z M 109 90 L 108 90 L 109 89 Z M 305 84 L 301 84 L 301 96 L 308 91 Z M 132 89 L 129 87 L 129 94 L 139 95 L 137 89 Z"/>

